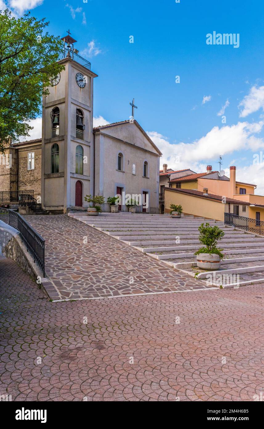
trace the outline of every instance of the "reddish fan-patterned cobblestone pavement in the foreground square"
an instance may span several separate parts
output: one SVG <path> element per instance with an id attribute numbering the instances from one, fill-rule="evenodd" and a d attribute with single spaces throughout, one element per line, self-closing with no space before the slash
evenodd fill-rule
<path id="1" fill-rule="evenodd" d="M 49 302 L 12 260 L 0 271 L 0 394 L 13 401 L 252 401 L 263 391 L 262 285 Z"/>

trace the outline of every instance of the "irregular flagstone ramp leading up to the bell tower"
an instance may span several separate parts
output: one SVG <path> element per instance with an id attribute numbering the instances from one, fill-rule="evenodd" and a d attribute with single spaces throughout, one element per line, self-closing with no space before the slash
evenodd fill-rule
<path id="1" fill-rule="evenodd" d="M 24 218 L 46 240 L 46 272 L 53 281 L 47 291 L 54 300 L 210 287 L 67 215 Z"/>

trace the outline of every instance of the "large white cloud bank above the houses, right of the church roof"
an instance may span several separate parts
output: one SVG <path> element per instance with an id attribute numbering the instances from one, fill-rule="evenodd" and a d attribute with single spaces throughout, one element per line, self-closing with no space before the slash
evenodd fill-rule
<path id="1" fill-rule="evenodd" d="M 256 151 L 263 148 L 263 139 L 255 136 L 263 125 L 264 121 L 255 124 L 238 122 L 236 125 L 214 127 L 192 143 L 171 144 L 166 137 L 156 131 L 148 132 L 148 136 L 163 153 L 160 164 L 166 163 L 170 168 L 178 170 L 191 168 L 198 172 L 206 171 L 207 163 L 217 160 L 220 151 L 221 155 L 225 155 L 242 149 Z"/>

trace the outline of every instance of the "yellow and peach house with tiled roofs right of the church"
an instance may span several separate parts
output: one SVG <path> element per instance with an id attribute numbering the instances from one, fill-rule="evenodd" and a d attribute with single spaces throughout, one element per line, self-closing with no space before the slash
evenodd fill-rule
<path id="1" fill-rule="evenodd" d="M 181 204 L 190 215 L 223 220 L 224 213 L 234 213 L 264 221 L 264 196 L 255 195 L 257 185 L 236 180 L 235 166 L 230 167 L 230 178 L 208 165 L 206 173 L 172 178 L 169 186 L 164 189 L 165 213 L 170 204 Z"/>

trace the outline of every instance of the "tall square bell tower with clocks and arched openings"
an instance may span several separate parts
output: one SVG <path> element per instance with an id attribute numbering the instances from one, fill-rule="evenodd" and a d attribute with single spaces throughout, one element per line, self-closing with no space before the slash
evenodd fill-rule
<path id="1" fill-rule="evenodd" d="M 93 193 L 93 79 L 89 61 L 78 55 L 74 40 L 63 37 L 59 63 L 65 69 L 50 82 L 42 108 L 42 205 L 67 213 L 86 207 Z"/>

